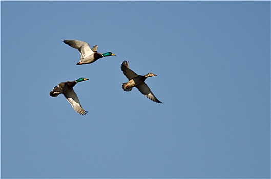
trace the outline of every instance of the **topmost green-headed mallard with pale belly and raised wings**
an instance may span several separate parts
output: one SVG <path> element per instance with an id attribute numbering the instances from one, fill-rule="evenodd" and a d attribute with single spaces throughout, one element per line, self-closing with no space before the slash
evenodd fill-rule
<path id="1" fill-rule="evenodd" d="M 113 54 L 112 52 L 106 52 L 106 53 L 100 54 L 97 52 L 97 49 L 98 49 L 97 45 L 93 46 L 92 49 L 90 49 L 89 44 L 84 41 L 64 40 L 63 42 L 79 50 L 81 54 L 81 58 L 80 58 L 80 61 L 76 65 L 89 64 L 103 57 L 115 56 L 115 54 Z"/>

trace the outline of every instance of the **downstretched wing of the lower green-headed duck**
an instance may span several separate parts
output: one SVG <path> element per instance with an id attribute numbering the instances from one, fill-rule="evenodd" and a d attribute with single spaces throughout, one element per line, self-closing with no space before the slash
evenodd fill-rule
<path id="1" fill-rule="evenodd" d="M 72 105 L 72 108 L 79 114 L 81 115 L 86 115 L 87 111 L 85 111 L 80 102 L 79 99 L 76 95 L 76 93 L 74 92 L 74 90 L 72 89 L 69 92 L 63 93 L 63 95 L 65 96 L 65 98 L 67 99 L 67 101 Z"/>

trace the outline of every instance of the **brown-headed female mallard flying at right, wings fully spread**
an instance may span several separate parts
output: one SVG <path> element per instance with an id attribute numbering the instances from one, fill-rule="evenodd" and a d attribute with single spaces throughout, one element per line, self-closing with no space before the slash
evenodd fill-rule
<path id="1" fill-rule="evenodd" d="M 136 87 L 143 95 L 145 95 L 150 100 L 156 103 L 162 103 L 154 96 L 151 89 L 145 83 L 146 78 L 157 75 L 153 73 L 147 73 L 146 75 L 137 75 L 134 71 L 132 71 L 129 68 L 128 63 L 129 61 L 123 61 L 120 65 L 121 71 L 129 80 L 127 83 L 122 83 L 122 89 L 128 92 L 131 91 L 133 87 Z"/>

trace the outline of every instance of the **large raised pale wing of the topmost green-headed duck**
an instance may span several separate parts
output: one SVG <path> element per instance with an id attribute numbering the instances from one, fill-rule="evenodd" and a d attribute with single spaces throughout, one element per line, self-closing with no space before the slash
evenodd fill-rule
<path id="1" fill-rule="evenodd" d="M 65 44 L 68 44 L 69 46 L 79 50 L 81 54 L 81 58 L 85 58 L 93 54 L 94 52 L 90 49 L 89 44 L 80 41 L 80 40 L 64 40 L 63 41 Z"/>

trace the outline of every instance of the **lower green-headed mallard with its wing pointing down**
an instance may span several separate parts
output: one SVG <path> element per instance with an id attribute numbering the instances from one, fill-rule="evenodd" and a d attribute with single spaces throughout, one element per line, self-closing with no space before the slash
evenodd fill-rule
<path id="1" fill-rule="evenodd" d="M 49 93 L 52 97 L 57 97 L 59 94 L 63 94 L 67 101 L 72 105 L 72 108 L 81 115 L 86 115 L 87 111 L 85 111 L 76 95 L 76 93 L 73 91 L 73 87 L 81 81 L 86 81 L 87 78 L 79 78 L 75 81 L 66 81 L 59 83 L 57 86 L 53 88 L 53 90 Z"/>

